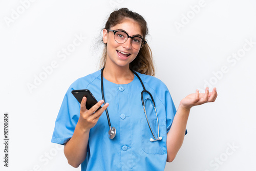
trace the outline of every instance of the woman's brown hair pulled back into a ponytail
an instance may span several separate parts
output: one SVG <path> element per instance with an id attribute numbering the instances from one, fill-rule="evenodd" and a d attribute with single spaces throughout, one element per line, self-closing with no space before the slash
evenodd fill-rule
<path id="1" fill-rule="evenodd" d="M 143 36 L 143 39 L 145 39 L 145 36 L 148 34 L 147 24 L 145 19 L 138 13 L 132 12 L 127 8 L 121 8 L 119 10 L 116 10 L 112 12 L 109 16 L 108 21 L 105 24 L 104 29 L 110 29 L 111 27 L 116 26 L 117 24 L 120 24 L 125 19 L 132 19 L 135 22 L 138 23 L 141 29 L 141 33 Z M 103 41 L 103 40 L 102 40 Z M 106 63 L 106 44 L 103 49 L 103 54 L 100 60 L 100 67 L 105 67 Z M 152 51 L 150 47 L 145 44 L 139 51 L 136 58 L 130 63 L 130 69 L 137 71 L 141 74 L 146 75 L 152 75 L 155 76 L 155 68 L 153 64 L 153 57 L 152 57 Z"/>

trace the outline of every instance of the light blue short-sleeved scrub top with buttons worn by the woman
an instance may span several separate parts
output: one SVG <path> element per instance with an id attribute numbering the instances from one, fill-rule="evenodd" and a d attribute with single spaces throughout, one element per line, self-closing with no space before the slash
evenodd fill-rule
<path id="1" fill-rule="evenodd" d="M 108 119 L 105 111 L 90 130 L 87 158 L 81 170 L 164 170 L 167 150 L 166 134 L 172 125 L 176 109 L 165 84 L 153 77 L 137 73 L 145 89 L 151 92 L 158 114 L 160 141 L 151 142 L 153 135 L 148 127 L 138 77 L 128 84 L 115 84 L 103 78 L 105 101 L 111 125 L 116 128 L 116 137 L 109 139 Z M 89 89 L 99 101 L 101 97 L 100 70 L 77 79 L 71 84 L 61 104 L 52 136 L 52 141 L 65 144 L 73 135 L 80 115 L 80 103 L 72 90 Z M 145 108 L 151 128 L 157 136 L 157 119 L 150 95 L 144 93 Z"/>

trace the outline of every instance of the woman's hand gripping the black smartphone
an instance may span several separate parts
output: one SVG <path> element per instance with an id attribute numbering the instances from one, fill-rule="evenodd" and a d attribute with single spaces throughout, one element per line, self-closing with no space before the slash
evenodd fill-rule
<path id="1" fill-rule="evenodd" d="M 95 126 L 101 114 L 109 106 L 109 103 L 105 103 L 101 109 L 95 112 L 103 104 L 103 100 L 98 101 L 90 110 L 86 109 L 86 101 L 87 98 L 83 97 L 81 101 L 80 117 L 77 122 L 80 129 L 84 132 L 90 131 L 90 129 Z"/>

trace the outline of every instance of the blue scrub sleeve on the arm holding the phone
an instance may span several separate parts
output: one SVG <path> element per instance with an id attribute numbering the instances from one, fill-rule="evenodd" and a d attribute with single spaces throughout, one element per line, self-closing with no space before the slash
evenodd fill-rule
<path id="1" fill-rule="evenodd" d="M 73 136 L 80 115 L 80 104 L 69 88 L 60 106 L 51 142 L 65 144 Z"/>

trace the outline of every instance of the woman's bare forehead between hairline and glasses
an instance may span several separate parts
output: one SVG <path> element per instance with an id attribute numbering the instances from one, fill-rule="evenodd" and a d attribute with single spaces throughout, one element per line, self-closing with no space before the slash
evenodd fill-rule
<path id="1" fill-rule="evenodd" d="M 140 25 L 131 19 L 125 19 L 125 20 L 123 20 L 122 23 L 115 25 L 111 29 L 112 30 L 118 30 L 118 29 L 124 30 L 130 36 L 138 35 L 138 34 L 142 36 Z"/>

